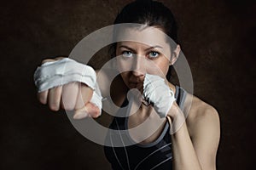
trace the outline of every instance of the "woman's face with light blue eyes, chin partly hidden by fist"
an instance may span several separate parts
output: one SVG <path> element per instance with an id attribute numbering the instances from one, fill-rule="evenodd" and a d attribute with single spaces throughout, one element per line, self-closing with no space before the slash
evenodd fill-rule
<path id="1" fill-rule="evenodd" d="M 129 28 L 119 36 L 132 40 L 117 42 L 116 48 L 120 75 L 128 88 L 142 90 L 146 73 L 165 78 L 169 66 L 177 59 L 171 59 L 171 54 L 177 52 L 178 55 L 179 46 L 172 52 L 166 34 L 158 28 Z"/>

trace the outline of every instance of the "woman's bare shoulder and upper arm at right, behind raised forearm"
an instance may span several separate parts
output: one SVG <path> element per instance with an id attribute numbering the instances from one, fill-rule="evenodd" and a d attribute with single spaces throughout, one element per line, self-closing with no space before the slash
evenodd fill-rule
<path id="1" fill-rule="evenodd" d="M 218 111 L 192 94 L 187 95 L 184 108 L 188 111 L 186 124 L 201 167 L 215 169 L 220 139 Z"/>

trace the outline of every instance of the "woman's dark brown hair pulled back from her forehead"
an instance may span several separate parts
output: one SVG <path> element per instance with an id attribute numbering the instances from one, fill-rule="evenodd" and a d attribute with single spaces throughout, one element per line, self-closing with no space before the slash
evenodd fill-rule
<path id="1" fill-rule="evenodd" d="M 172 11 L 163 3 L 152 0 L 137 0 L 127 4 L 117 15 L 113 24 L 136 23 L 147 26 L 160 27 L 166 35 L 177 43 L 177 22 L 174 19 Z M 116 42 L 109 48 L 111 57 L 115 57 Z M 171 48 L 176 47 L 171 43 Z M 170 65 L 166 78 L 170 80 L 172 65 Z"/>

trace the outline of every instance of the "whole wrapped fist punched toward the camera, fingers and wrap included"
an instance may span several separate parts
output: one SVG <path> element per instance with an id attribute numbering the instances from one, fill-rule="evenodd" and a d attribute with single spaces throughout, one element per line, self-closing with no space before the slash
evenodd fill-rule
<path id="1" fill-rule="evenodd" d="M 75 119 L 100 116 L 102 94 L 93 68 L 68 58 L 47 61 L 34 73 L 39 101 L 52 111 L 75 111 Z"/>

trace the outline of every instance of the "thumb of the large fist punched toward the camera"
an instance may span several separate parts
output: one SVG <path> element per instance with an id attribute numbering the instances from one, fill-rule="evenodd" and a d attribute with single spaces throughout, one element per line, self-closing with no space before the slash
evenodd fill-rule
<path id="1" fill-rule="evenodd" d="M 100 109 L 96 105 L 88 102 L 86 105 L 84 105 L 84 107 L 74 112 L 73 119 L 83 119 L 85 117 L 96 118 L 100 115 L 101 115 Z"/>

